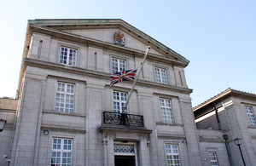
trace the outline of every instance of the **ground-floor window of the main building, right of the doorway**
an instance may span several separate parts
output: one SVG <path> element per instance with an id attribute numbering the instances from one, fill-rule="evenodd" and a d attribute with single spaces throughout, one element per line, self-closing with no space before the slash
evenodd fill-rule
<path id="1" fill-rule="evenodd" d="M 180 165 L 179 152 L 178 152 L 177 145 L 166 144 L 166 159 L 167 159 L 168 166 Z"/>

